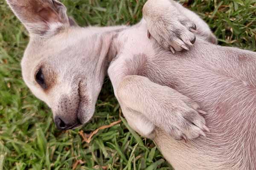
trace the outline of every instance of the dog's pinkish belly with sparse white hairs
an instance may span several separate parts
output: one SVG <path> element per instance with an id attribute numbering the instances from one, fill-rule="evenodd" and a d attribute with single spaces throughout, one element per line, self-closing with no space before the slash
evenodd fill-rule
<path id="1" fill-rule="evenodd" d="M 211 130 L 187 144 L 158 132 L 166 159 L 177 170 L 255 170 L 256 53 L 199 40 L 191 51 L 149 60 L 146 76 L 198 102 Z"/>

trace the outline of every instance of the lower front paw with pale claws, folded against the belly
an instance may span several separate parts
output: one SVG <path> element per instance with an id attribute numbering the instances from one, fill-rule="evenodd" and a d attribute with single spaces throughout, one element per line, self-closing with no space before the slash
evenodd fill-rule
<path id="1" fill-rule="evenodd" d="M 201 111 L 199 106 L 190 99 L 174 108 L 171 114 L 172 116 L 162 119 L 160 128 L 176 140 L 184 139 L 187 142 L 189 139 L 206 136 L 205 131 L 209 132 L 202 116 L 206 113 Z"/>

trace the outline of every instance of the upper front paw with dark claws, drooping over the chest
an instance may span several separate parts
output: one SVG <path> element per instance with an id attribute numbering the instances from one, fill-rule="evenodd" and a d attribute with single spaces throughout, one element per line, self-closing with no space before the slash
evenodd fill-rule
<path id="1" fill-rule="evenodd" d="M 148 26 L 148 38 L 151 36 L 166 50 L 189 50 L 194 45 L 196 25 L 183 15 L 162 16 Z"/>

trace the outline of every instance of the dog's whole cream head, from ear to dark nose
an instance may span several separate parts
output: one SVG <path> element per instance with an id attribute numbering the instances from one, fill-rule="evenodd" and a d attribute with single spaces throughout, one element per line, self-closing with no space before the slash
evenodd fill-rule
<path id="1" fill-rule="evenodd" d="M 59 129 L 88 122 L 102 88 L 113 35 L 76 26 L 57 0 L 7 3 L 29 31 L 21 67 L 32 93 L 52 109 Z"/>

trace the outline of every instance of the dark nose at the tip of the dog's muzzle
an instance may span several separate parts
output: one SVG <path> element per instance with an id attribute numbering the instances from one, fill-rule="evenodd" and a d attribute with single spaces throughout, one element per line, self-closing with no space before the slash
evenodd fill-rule
<path id="1" fill-rule="evenodd" d="M 61 116 L 55 116 L 54 122 L 59 130 L 69 130 L 81 125 L 78 119 L 75 122 L 68 122 Z"/>

